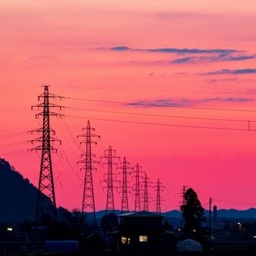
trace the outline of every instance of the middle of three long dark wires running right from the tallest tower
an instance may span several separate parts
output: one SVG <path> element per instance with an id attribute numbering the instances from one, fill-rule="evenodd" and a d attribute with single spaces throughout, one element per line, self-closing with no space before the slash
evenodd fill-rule
<path id="1" fill-rule="evenodd" d="M 212 120 L 212 121 L 228 121 L 228 122 L 229 121 L 230 122 L 256 122 L 256 120 L 241 120 L 241 119 L 227 119 L 227 118 L 205 118 L 205 117 L 193 117 L 193 116 L 156 115 L 156 114 L 146 114 L 146 113 L 110 111 L 110 110 L 88 109 L 88 108 L 73 108 L 73 107 L 63 107 L 63 108 L 93 111 L 93 112 L 102 112 L 102 113 L 124 114 L 124 115 L 158 116 L 158 117 L 196 119 L 196 120 Z"/>

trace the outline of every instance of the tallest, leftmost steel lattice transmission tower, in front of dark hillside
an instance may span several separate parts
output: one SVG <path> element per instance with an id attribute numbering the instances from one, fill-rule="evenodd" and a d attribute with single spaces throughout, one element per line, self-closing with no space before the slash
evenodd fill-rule
<path id="1" fill-rule="evenodd" d="M 40 176 L 38 182 L 38 194 L 36 200 L 36 213 L 35 213 L 35 226 L 38 225 L 38 220 L 40 214 L 47 212 L 51 214 L 54 221 L 57 220 L 56 213 L 56 200 L 55 200 L 55 191 L 54 191 L 54 180 L 52 174 L 52 161 L 51 161 L 51 152 L 57 152 L 57 149 L 52 147 L 53 143 L 61 143 L 60 140 L 53 138 L 51 134 L 55 134 L 55 131 L 50 127 L 50 116 L 59 116 L 60 114 L 50 111 L 50 108 L 59 108 L 61 106 L 52 104 L 49 102 L 49 99 L 61 99 L 60 96 L 49 93 L 48 86 L 44 86 L 44 93 L 38 96 L 38 100 L 43 99 L 44 102 L 32 106 L 31 109 L 43 109 L 41 113 L 36 114 L 36 118 L 43 116 L 43 127 L 39 128 L 33 132 L 42 133 L 42 137 L 36 138 L 31 142 L 36 141 L 42 143 L 42 145 L 32 148 L 32 152 L 38 150 L 42 151 L 41 165 L 40 165 Z M 50 199 L 50 200 L 49 200 Z"/>

